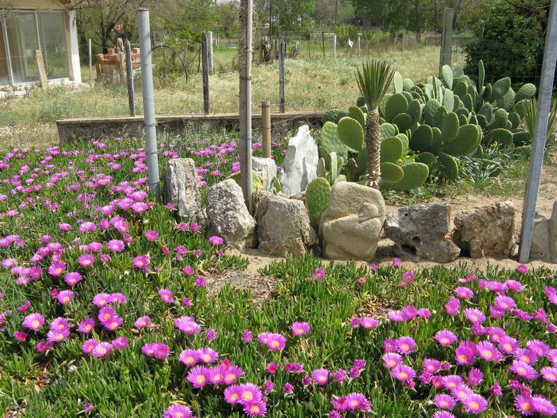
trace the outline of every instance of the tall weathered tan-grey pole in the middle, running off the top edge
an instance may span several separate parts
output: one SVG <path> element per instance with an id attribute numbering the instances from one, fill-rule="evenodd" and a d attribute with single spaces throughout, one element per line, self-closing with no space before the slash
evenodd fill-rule
<path id="1" fill-rule="evenodd" d="M 240 178 L 242 192 L 251 209 L 251 53 L 253 0 L 241 0 L 242 33 L 240 37 Z"/>

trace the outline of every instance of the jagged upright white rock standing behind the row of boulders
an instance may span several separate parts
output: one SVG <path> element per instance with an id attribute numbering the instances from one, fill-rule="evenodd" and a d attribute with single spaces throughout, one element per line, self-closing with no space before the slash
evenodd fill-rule
<path id="1" fill-rule="evenodd" d="M 288 196 L 303 192 L 311 180 L 317 177 L 318 161 L 317 144 L 309 133 L 309 126 L 302 125 L 296 136 L 288 141 L 281 176 L 283 192 Z"/>

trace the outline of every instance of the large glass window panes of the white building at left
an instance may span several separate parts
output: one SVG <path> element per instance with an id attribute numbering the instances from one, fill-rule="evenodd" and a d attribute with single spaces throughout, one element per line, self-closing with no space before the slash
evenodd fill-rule
<path id="1" fill-rule="evenodd" d="M 15 84 L 38 81 L 36 49 L 42 51 L 48 79 L 68 77 L 65 17 L 63 11 L 10 13 L 4 20 L 6 30 L 3 33 L 7 39 L 0 33 L 0 47 L 3 47 L 0 52 L 0 85 L 8 84 L 9 64 Z M 8 51 L 9 62 L 6 59 Z"/>

